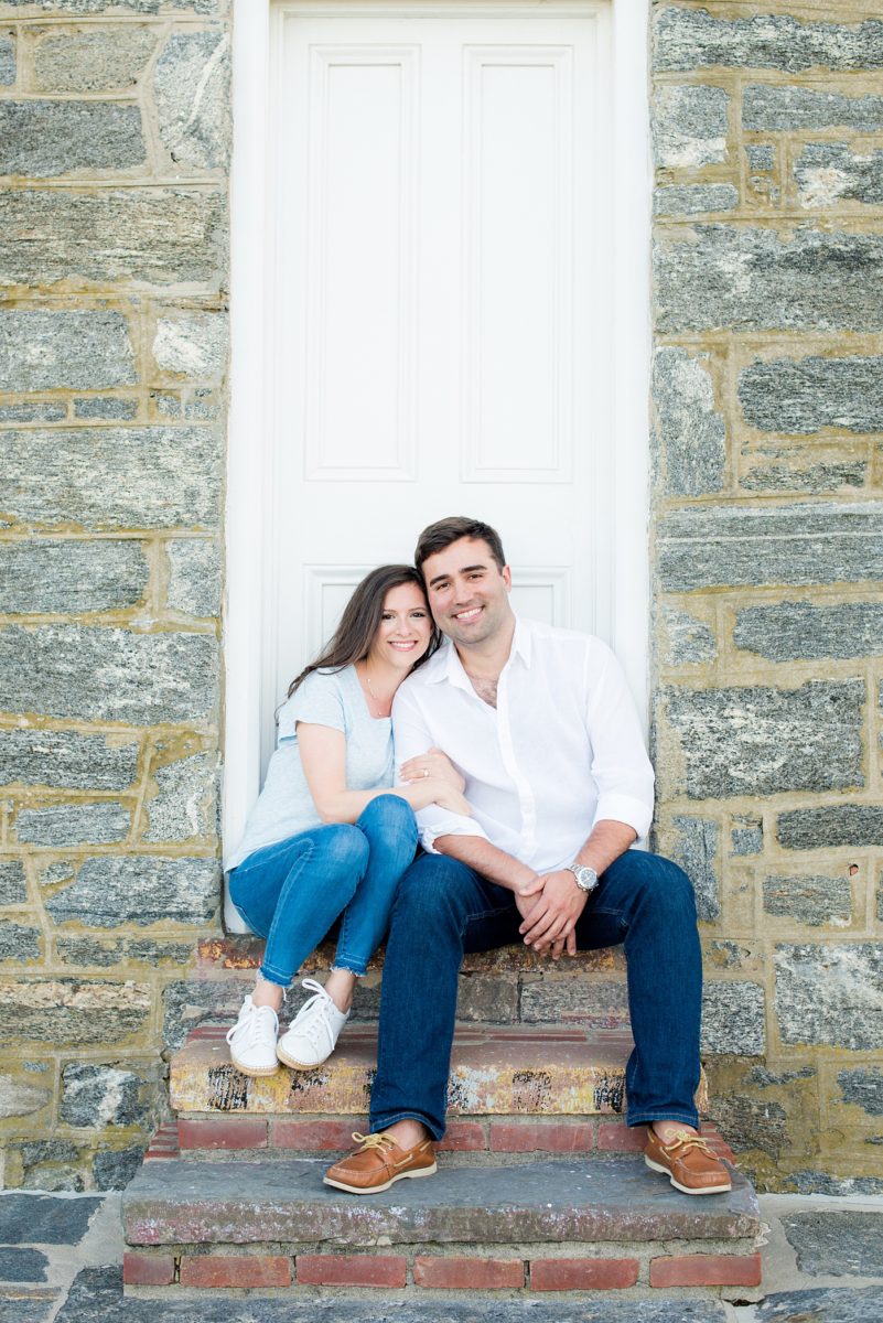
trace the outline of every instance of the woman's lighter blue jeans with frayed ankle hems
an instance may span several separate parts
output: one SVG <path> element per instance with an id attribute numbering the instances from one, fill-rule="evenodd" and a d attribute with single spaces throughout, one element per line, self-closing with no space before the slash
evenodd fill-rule
<path id="1" fill-rule="evenodd" d="M 313 827 L 243 859 L 230 873 L 230 900 L 267 939 L 263 978 L 288 987 L 341 914 L 334 967 L 364 974 L 415 849 L 410 804 L 378 795 L 354 827 Z"/>

